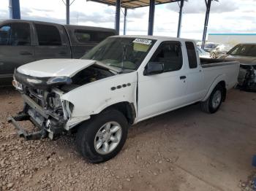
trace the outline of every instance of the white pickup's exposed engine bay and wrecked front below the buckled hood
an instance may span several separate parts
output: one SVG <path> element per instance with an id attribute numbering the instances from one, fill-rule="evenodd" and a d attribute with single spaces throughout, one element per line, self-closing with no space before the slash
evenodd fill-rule
<path id="1" fill-rule="evenodd" d="M 111 77 L 115 72 L 101 66 L 91 65 L 73 77 L 31 77 L 15 71 L 13 85 L 20 91 L 25 102 L 22 112 L 9 121 L 31 120 L 40 130 L 26 133 L 19 128 L 26 139 L 48 136 L 50 139 L 64 132 L 64 126 L 72 116 L 73 104 L 61 100 L 61 95 L 77 87 Z M 54 135 L 54 136 L 53 136 Z M 39 136 L 39 137 L 38 137 Z"/>

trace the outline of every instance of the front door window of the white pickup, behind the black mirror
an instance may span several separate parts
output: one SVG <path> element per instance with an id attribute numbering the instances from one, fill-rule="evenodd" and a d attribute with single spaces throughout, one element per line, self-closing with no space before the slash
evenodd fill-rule
<path id="1" fill-rule="evenodd" d="M 182 67 L 180 42 L 163 42 L 157 48 L 150 62 L 163 63 L 164 72 L 177 71 Z"/>

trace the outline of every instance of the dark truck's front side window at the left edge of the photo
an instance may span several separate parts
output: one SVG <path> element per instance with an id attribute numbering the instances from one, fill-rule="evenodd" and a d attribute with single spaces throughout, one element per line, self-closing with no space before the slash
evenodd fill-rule
<path id="1" fill-rule="evenodd" d="M 0 45 L 29 46 L 31 34 L 29 23 L 12 23 L 1 26 Z"/>

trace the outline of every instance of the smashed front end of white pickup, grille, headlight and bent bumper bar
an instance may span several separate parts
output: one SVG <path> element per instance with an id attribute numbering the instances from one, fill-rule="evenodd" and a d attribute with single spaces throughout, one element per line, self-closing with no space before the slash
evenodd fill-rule
<path id="1" fill-rule="evenodd" d="M 58 136 L 64 130 L 64 125 L 69 120 L 73 105 L 61 101 L 63 92 L 54 87 L 70 85 L 69 77 L 31 77 L 15 71 L 12 85 L 21 93 L 24 101 L 23 111 L 14 117 L 9 117 L 9 122 L 15 125 L 20 136 L 25 139 L 41 139 L 48 136 Z M 37 132 L 27 133 L 18 121 L 30 120 L 39 128 Z"/>

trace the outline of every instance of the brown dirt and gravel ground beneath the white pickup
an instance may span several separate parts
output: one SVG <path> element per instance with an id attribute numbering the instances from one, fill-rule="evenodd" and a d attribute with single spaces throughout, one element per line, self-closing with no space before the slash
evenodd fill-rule
<path id="1" fill-rule="evenodd" d="M 18 138 L 7 117 L 20 109 L 20 95 L 1 88 L 0 190 L 235 191 L 255 172 L 255 93 L 231 90 L 216 114 L 193 105 L 140 122 L 121 153 L 97 165 L 80 157 L 75 136 Z"/>

